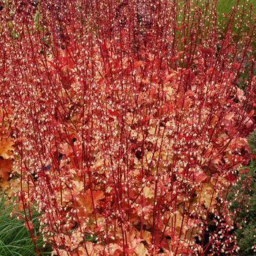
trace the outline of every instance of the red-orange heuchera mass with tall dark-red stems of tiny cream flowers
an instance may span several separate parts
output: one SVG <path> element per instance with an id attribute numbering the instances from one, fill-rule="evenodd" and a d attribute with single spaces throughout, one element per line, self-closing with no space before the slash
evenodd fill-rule
<path id="1" fill-rule="evenodd" d="M 217 4 L 4 1 L 12 176 L 53 255 L 238 252 L 227 193 L 250 159 L 255 23 L 237 3 L 222 29 Z"/>

